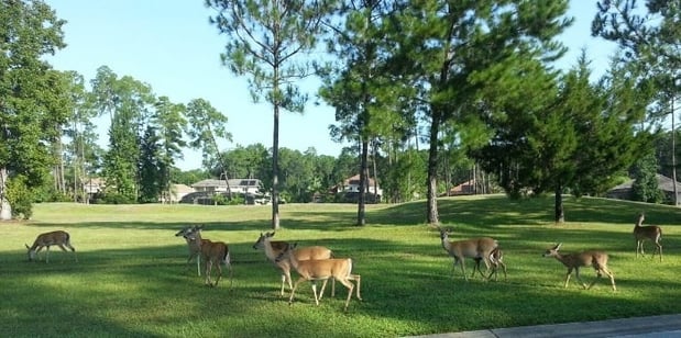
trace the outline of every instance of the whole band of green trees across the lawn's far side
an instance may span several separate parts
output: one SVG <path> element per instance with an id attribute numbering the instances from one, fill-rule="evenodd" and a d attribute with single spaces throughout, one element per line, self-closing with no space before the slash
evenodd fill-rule
<path id="1" fill-rule="evenodd" d="M 224 65 L 249 78 L 274 117 L 272 147 L 221 151 L 227 117 L 208 101 L 174 103 L 107 67 L 86 90 L 77 74 L 41 57 L 64 46 L 64 22 L 42 1 L 2 1 L 0 211 L 12 202 L 26 215 L 21 201 L 51 178 L 65 193 L 67 177 L 77 187 L 97 172 L 109 201 L 154 202 L 174 180 L 208 172 L 263 180 L 278 228 L 279 194 L 309 201 L 358 171 L 364 191 L 373 170 L 387 200 L 425 195 L 427 221 L 438 223 L 437 196 L 480 168 L 512 196 L 556 193 L 562 222 L 562 193 L 602 194 L 635 164 L 649 174 L 641 168 L 662 153 L 675 177 L 673 124 L 671 149 L 656 136 L 673 117 L 681 7 L 646 4 L 597 3 L 593 34 L 622 49 L 593 80 L 585 53 L 569 70 L 554 67 L 565 52 L 557 37 L 572 23 L 568 0 L 208 0 L 227 37 Z M 328 58 L 314 59 L 320 53 L 309 52 L 323 46 Z M 308 97 L 297 80 L 310 75 L 336 108 L 330 136 L 358 145 L 339 158 L 278 147 L 281 111 L 303 112 Z M 106 151 L 89 132 L 101 116 L 111 123 Z M 207 171 L 174 168 L 185 147 L 204 151 Z M 364 203 L 360 194 L 358 225 Z"/>

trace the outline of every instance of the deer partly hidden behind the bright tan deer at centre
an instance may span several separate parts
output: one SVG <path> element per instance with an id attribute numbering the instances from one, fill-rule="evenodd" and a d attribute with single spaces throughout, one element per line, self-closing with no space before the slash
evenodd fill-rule
<path id="1" fill-rule="evenodd" d="M 293 281 L 290 280 L 290 263 L 288 262 L 288 260 L 282 260 L 278 262 L 276 262 L 275 260 L 290 245 L 284 240 L 272 240 L 272 237 L 274 237 L 274 232 L 265 234 L 261 233 L 255 244 L 253 244 L 253 249 L 264 250 L 267 259 L 270 259 L 270 261 L 272 261 L 277 268 L 282 270 L 282 291 L 279 294 L 284 296 L 284 288 L 286 283 L 288 283 L 288 290 L 293 290 Z M 294 250 L 293 255 L 295 255 L 296 259 L 298 260 L 333 258 L 333 252 L 330 249 L 320 246 L 297 248 Z M 321 286 L 321 294 L 323 294 L 326 285 L 327 281 L 325 281 Z M 333 296 L 334 293 L 336 280 L 332 280 L 331 296 Z"/>

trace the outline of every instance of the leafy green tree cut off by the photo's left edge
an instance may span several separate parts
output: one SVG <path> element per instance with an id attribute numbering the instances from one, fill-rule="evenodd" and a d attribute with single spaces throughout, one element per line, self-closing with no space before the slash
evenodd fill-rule
<path id="1" fill-rule="evenodd" d="M 43 56 L 65 46 L 64 23 L 43 1 L 0 1 L 0 219 L 18 212 L 30 216 L 25 201 L 32 199 L 13 201 L 17 194 L 8 189 L 30 193 L 56 164 L 46 145 L 65 119 L 56 102 L 64 88 L 53 87 L 56 74 Z M 21 183 L 12 188 L 14 182 Z M 22 204 L 19 211 L 12 211 L 15 202 Z"/>

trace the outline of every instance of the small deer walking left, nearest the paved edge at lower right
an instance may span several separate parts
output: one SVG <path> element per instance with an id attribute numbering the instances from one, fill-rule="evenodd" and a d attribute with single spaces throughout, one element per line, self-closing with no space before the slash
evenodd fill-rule
<path id="1" fill-rule="evenodd" d="M 565 275 L 564 288 L 568 288 L 568 282 L 570 282 L 570 275 L 572 274 L 572 270 L 574 270 L 576 280 L 580 283 L 582 283 L 582 286 L 584 286 L 584 289 L 586 290 L 591 289 L 591 286 L 593 286 L 593 284 L 596 283 L 596 281 L 603 275 L 603 273 L 605 273 L 611 278 L 611 283 L 613 284 L 613 291 L 617 291 L 617 288 L 615 286 L 615 277 L 609 270 L 607 270 L 607 254 L 603 251 L 589 250 L 589 251 L 583 251 L 583 252 L 578 252 L 578 254 L 562 255 L 558 252 L 561 245 L 562 243 L 559 243 L 553 248 L 546 250 L 546 252 L 543 252 L 542 256 L 553 257 L 558 261 L 563 263 L 563 266 L 568 267 L 568 274 Z M 597 278 L 593 282 L 591 282 L 589 286 L 586 286 L 586 284 L 582 282 L 582 279 L 580 278 L 580 267 L 589 267 L 589 266 L 593 267 L 596 270 Z"/>

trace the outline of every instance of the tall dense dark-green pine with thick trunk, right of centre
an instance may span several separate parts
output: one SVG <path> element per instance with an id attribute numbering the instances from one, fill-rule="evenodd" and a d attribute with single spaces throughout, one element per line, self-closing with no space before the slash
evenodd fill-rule
<path id="1" fill-rule="evenodd" d="M 465 122 L 471 112 L 465 106 L 472 104 L 477 89 L 491 78 L 505 80 L 495 74 L 514 68 L 515 61 L 528 55 L 545 60 L 560 57 L 564 48 L 554 37 L 571 20 L 562 18 L 567 0 L 405 0 L 400 4 L 387 36 L 399 46 L 391 64 L 417 90 L 411 102 L 428 124 L 427 221 L 437 224 L 441 126 L 450 120 Z"/>

